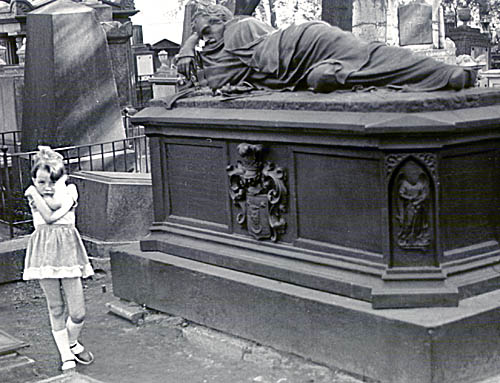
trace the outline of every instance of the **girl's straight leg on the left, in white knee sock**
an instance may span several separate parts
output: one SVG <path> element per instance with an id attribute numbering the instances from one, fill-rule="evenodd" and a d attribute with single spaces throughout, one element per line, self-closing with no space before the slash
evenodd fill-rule
<path id="1" fill-rule="evenodd" d="M 63 362 L 62 370 L 75 368 L 75 357 L 69 348 L 68 331 L 64 321 L 64 300 L 60 281 L 59 279 L 41 279 L 40 286 L 47 299 L 52 335 Z"/>

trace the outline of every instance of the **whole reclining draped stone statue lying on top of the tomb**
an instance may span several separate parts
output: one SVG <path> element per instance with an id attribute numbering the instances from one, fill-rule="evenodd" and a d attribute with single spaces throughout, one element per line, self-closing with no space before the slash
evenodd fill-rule
<path id="1" fill-rule="evenodd" d="M 198 4 L 193 34 L 183 44 L 179 73 L 191 77 L 199 54 L 208 86 L 251 84 L 259 89 L 332 92 L 353 87 L 409 91 L 460 90 L 475 83 L 475 72 L 367 42 L 322 21 L 275 30 L 250 16 L 234 16 L 222 5 Z"/>

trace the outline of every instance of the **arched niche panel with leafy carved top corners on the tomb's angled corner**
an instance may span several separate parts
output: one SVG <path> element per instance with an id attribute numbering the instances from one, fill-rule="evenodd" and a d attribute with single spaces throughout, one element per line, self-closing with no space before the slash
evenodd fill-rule
<path id="1" fill-rule="evenodd" d="M 385 171 L 390 185 L 394 241 L 403 250 L 427 250 L 433 243 L 436 155 L 388 155 Z"/>

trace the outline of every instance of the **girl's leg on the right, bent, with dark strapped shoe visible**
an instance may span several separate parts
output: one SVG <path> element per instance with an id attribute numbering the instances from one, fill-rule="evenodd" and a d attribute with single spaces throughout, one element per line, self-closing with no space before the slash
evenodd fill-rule
<path id="1" fill-rule="evenodd" d="M 76 360 L 82 364 L 90 364 L 94 360 L 91 352 L 85 350 L 78 342 L 80 331 L 85 320 L 85 298 L 83 295 L 82 281 L 80 278 L 64 278 L 61 283 L 66 295 L 69 316 L 66 321 L 69 344 Z"/>

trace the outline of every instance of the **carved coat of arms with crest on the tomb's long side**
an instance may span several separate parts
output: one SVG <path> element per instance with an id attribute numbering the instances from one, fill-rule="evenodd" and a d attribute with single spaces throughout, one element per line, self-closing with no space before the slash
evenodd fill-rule
<path id="1" fill-rule="evenodd" d="M 238 145 L 242 160 L 226 169 L 229 195 L 239 209 L 238 224 L 256 239 L 276 241 L 286 228 L 282 217 L 288 197 L 286 177 L 281 167 L 262 161 L 262 152 L 262 145 Z"/>

